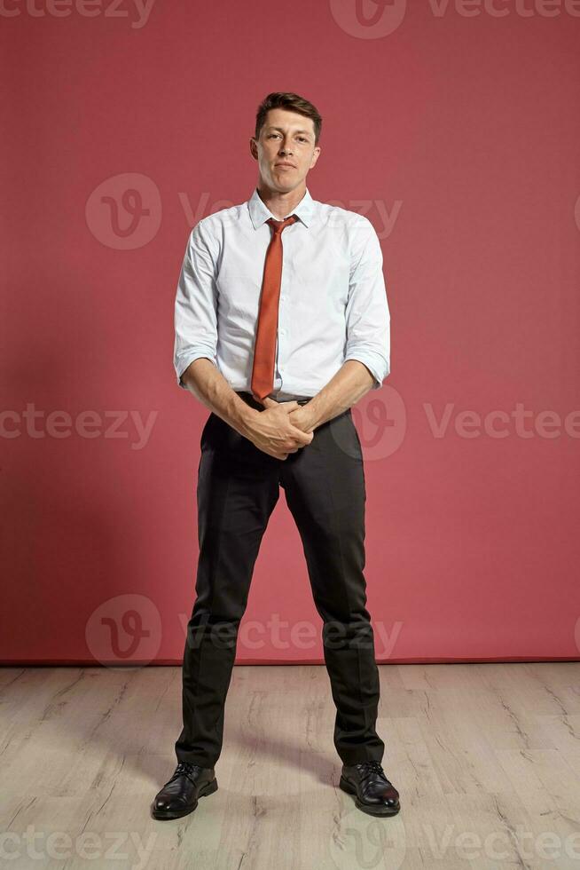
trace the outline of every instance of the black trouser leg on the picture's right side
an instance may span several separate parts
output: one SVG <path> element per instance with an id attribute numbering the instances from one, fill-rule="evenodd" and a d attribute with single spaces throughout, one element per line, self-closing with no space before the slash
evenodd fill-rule
<path id="1" fill-rule="evenodd" d="M 380 700 L 364 578 L 363 456 L 350 411 L 314 431 L 292 454 L 280 484 L 302 538 L 325 665 L 336 707 L 334 746 L 345 764 L 381 761 L 375 730 Z"/>

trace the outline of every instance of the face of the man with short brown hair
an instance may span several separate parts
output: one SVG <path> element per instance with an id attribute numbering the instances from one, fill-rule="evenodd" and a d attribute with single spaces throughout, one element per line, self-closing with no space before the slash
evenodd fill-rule
<path id="1" fill-rule="evenodd" d="M 250 139 L 250 150 L 261 181 L 280 192 L 300 186 L 320 154 L 312 119 L 283 108 L 270 109 L 260 138 Z"/>

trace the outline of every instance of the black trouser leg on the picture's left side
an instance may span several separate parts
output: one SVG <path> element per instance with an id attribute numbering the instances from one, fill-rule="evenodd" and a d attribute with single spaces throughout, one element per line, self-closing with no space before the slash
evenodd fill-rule
<path id="1" fill-rule="evenodd" d="M 183 663 L 183 730 L 178 761 L 213 767 L 255 559 L 278 501 L 278 462 L 217 415 L 201 437 L 200 556 Z"/>

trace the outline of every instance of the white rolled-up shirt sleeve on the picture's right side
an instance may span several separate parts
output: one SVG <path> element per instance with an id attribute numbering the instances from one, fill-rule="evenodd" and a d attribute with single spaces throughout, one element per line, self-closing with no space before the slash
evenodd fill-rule
<path id="1" fill-rule="evenodd" d="M 378 390 L 390 372 L 390 312 L 379 237 L 368 218 L 359 218 L 351 252 L 344 362 L 364 363 L 374 378 L 372 389 Z"/>

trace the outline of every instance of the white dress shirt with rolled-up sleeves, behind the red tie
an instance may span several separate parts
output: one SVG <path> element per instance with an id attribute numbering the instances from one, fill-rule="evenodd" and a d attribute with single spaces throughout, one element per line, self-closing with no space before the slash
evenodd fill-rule
<path id="1" fill-rule="evenodd" d="M 308 188 L 282 231 L 283 266 L 272 399 L 314 396 L 346 360 L 377 390 L 390 371 L 390 314 L 380 241 L 356 211 Z M 247 202 L 202 218 L 190 233 L 176 292 L 174 368 L 207 357 L 236 392 L 251 392 L 255 330 L 274 215 L 255 188 Z M 278 219 L 278 218 L 276 218 Z"/>

